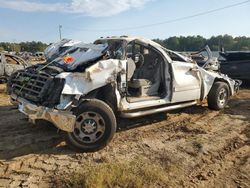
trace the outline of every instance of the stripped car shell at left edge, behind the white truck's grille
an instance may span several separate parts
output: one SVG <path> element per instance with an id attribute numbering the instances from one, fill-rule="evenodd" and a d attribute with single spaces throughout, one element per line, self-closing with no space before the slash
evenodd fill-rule
<path id="1" fill-rule="evenodd" d="M 8 53 L 0 53 L 0 81 L 6 81 L 17 70 L 25 69 L 29 64 L 22 58 Z"/>

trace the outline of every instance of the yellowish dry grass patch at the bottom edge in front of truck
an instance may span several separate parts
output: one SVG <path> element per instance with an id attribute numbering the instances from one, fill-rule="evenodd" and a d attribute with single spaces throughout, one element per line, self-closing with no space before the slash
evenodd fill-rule
<path id="1" fill-rule="evenodd" d="M 64 175 L 56 181 L 56 187 L 165 187 L 168 176 L 159 165 L 149 160 L 86 165 L 82 172 Z"/>

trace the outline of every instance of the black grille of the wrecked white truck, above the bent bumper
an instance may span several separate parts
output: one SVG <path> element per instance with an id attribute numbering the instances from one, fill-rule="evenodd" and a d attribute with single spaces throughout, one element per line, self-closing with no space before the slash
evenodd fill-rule
<path id="1" fill-rule="evenodd" d="M 24 99 L 41 103 L 53 77 L 45 72 L 24 70 L 11 76 L 10 88 L 14 94 Z"/>

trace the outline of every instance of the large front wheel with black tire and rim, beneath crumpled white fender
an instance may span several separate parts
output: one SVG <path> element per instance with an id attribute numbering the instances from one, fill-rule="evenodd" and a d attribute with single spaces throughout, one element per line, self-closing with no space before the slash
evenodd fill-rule
<path id="1" fill-rule="evenodd" d="M 98 151 L 112 140 L 117 127 L 116 117 L 105 102 L 87 100 L 74 114 L 77 117 L 74 132 L 64 132 L 65 141 L 72 149 L 79 152 Z"/>

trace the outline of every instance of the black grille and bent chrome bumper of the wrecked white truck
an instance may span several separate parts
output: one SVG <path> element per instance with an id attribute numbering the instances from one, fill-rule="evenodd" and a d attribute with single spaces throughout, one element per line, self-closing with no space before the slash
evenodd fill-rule
<path id="1" fill-rule="evenodd" d="M 61 103 L 61 92 L 65 86 L 65 79 L 56 77 L 62 70 L 47 67 L 39 71 L 41 66 L 18 71 L 11 76 L 7 84 L 11 101 L 17 103 L 19 111 L 33 123 L 43 119 L 64 131 L 71 131 L 75 116 L 56 108 Z"/>

